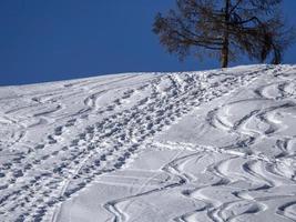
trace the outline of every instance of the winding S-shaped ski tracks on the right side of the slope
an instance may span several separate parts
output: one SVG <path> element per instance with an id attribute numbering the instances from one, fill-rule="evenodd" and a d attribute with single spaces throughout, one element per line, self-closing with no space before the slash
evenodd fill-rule
<path id="1" fill-rule="evenodd" d="M 287 71 L 294 71 L 290 74 L 292 78 L 289 77 L 286 81 L 283 81 L 283 75 L 278 73 Z M 226 102 L 210 111 L 206 118 L 208 124 L 228 133 L 237 134 L 237 141 L 232 145 L 221 148 L 194 145 L 187 148 L 193 153 L 176 157 L 160 169 L 162 172 L 171 175 L 171 183 L 165 183 L 162 186 L 144 192 L 139 191 L 131 196 L 124 196 L 105 203 L 105 210 L 113 215 L 109 221 L 137 221 L 137 218 L 129 214 L 126 211 L 127 206 L 130 208 L 136 200 L 143 201 L 145 196 L 155 193 L 161 194 L 171 189 L 177 189 L 176 192 L 181 190 L 184 196 L 200 203 L 202 202 L 204 206 L 167 219 L 167 221 L 191 222 L 203 219 L 218 222 L 253 221 L 254 218 L 252 216 L 263 215 L 262 219 L 264 220 L 267 219 L 265 214 L 271 213 L 275 213 L 278 216 L 275 221 L 296 221 L 295 150 L 292 149 L 293 145 L 288 148 L 289 142 L 294 140 L 295 135 L 278 135 L 277 132 L 283 131 L 285 128 L 288 129 L 288 125 L 279 124 L 274 118 L 275 112 L 282 112 L 282 115 L 284 115 L 285 112 L 290 113 L 294 111 L 295 114 L 296 104 L 293 101 L 295 99 L 294 93 L 296 93 L 293 91 L 295 90 L 295 73 L 296 69 L 275 69 L 268 74 L 278 77 L 278 82 L 254 89 L 254 99 Z M 269 89 L 271 87 L 273 89 Z M 254 101 L 273 101 L 273 103 L 266 107 L 261 105 L 258 109 L 253 108 L 233 122 L 225 120 L 225 117 L 232 112 L 231 109 L 242 105 L 242 103 L 248 104 Z M 248 128 L 254 119 L 266 125 L 264 130 Z M 264 141 L 266 137 L 275 141 L 273 149 L 277 149 L 279 151 L 278 154 L 264 154 L 264 152 L 257 152 L 256 149 L 252 151 L 252 148 L 256 148 L 257 143 Z M 156 150 L 160 145 L 156 145 L 154 149 Z M 166 144 L 165 149 L 180 149 L 181 147 L 184 149 L 187 145 L 178 143 L 171 147 Z M 191 173 L 190 169 L 192 169 L 192 165 L 188 163 L 195 162 L 196 167 L 193 169 L 198 171 L 200 160 L 211 160 L 214 157 L 218 157 L 222 160 L 204 164 L 205 169 L 201 171 L 215 178 L 215 182 L 207 184 L 198 183 L 198 175 L 203 173 L 196 173 L 197 175 Z M 175 178 L 177 178 L 177 181 Z M 285 191 L 282 189 L 285 189 Z M 125 205 L 125 208 L 123 209 L 121 205 Z M 157 205 L 155 208 L 159 209 L 161 206 Z"/>

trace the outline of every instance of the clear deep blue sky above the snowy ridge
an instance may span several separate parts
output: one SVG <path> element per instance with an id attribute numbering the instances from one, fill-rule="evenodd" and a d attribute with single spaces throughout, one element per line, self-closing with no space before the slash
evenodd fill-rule
<path id="1" fill-rule="evenodd" d="M 217 68 L 210 59 L 180 62 L 160 46 L 153 18 L 172 6 L 173 0 L 1 0 L 0 85 Z M 284 0 L 292 24 L 295 10 L 295 0 Z M 296 63 L 295 46 L 284 63 Z"/>

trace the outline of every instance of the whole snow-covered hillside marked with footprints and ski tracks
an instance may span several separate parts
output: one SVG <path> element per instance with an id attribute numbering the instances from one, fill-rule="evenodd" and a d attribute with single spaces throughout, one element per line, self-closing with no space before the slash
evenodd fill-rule
<path id="1" fill-rule="evenodd" d="M 0 88 L 0 221 L 296 221 L 296 67 Z"/>

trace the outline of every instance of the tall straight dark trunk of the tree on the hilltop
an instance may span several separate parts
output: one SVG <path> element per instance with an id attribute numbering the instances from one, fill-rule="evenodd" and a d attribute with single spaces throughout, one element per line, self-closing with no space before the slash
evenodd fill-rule
<path id="1" fill-rule="evenodd" d="M 229 57 L 229 0 L 225 0 L 224 37 L 221 51 L 222 68 L 228 67 Z"/>

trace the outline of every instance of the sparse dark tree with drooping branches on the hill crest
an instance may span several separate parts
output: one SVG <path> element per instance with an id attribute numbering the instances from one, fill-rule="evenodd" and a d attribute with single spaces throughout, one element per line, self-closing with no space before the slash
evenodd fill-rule
<path id="1" fill-rule="evenodd" d="M 153 31 L 180 59 L 194 52 L 220 58 L 226 68 L 239 53 L 280 63 L 294 29 L 280 17 L 282 0 L 176 0 L 176 8 L 159 13 Z"/>

